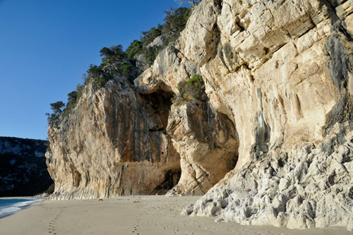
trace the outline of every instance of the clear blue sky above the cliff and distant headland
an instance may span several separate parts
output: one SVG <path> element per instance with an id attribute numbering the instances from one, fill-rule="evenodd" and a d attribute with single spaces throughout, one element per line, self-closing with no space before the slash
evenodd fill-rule
<path id="1" fill-rule="evenodd" d="M 0 136 L 47 138 L 49 103 L 66 102 L 100 49 L 162 23 L 174 0 L 0 0 Z"/>

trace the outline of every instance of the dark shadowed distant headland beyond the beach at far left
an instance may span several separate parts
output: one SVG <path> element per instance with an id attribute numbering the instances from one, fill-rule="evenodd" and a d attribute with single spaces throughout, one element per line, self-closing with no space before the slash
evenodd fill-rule
<path id="1" fill-rule="evenodd" d="M 0 137 L 0 197 L 32 196 L 53 183 L 44 153 L 48 142 Z"/>

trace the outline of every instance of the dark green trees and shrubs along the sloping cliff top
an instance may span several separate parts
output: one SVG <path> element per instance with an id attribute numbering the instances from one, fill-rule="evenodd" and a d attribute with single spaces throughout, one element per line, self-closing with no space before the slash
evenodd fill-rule
<path id="1" fill-rule="evenodd" d="M 189 3 L 194 6 L 198 1 L 189 1 Z M 139 71 L 136 65 L 137 57 L 139 56 L 140 61 L 143 61 L 143 66 L 151 66 L 162 49 L 177 40 L 186 26 L 191 11 L 192 8 L 184 7 L 170 8 L 165 11 L 164 23 L 157 25 L 157 28 L 152 27 L 150 30 L 141 32 L 140 40 L 133 40 L 125 51 L 121 44 L 109 48 L 103 47 L 100 50 L 102 64 L 90 65 L 87 73 L 83 74 L 83 85 L 78 84 L 76 90 L 68 93 L 66 105 L 62 101 L 50 104 L 53 112 L 46 114 L 49 126 L 56 125 L 60 118 L 70 114 L 80 100 L 85 85 L 92 84 L 95 90 L 99 90 L 104 88 L 114 76 L 125 76 L 133 83 Z M 160 37 L 162 44 L 152 44 L 157 37 Z"/>

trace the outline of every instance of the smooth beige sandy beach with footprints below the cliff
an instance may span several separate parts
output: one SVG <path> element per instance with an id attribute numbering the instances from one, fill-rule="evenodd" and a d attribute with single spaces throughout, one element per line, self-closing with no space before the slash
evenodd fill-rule
<path id="1" fill-rule="evenodd" d="M 344 227 L 290 230 L 181 216 L 182 208 L 198 198 L 153 195 L 45 201 L 0 219 L 0 234 L 352 234 Z"/>

